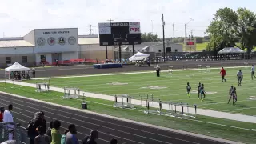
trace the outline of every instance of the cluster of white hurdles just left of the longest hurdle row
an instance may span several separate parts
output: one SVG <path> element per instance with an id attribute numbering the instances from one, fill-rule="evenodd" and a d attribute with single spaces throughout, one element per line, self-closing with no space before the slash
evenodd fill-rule
<path id="1" fill-rule="evenodd" d="M 119 101 L 119 98 L 122 98 L 122 101 Z M 114 105 L 113 107 L 119 107 L 122 109 L 134 109 L 135 97 L 129 96 L 128 94 L 114 95 Z"/>

